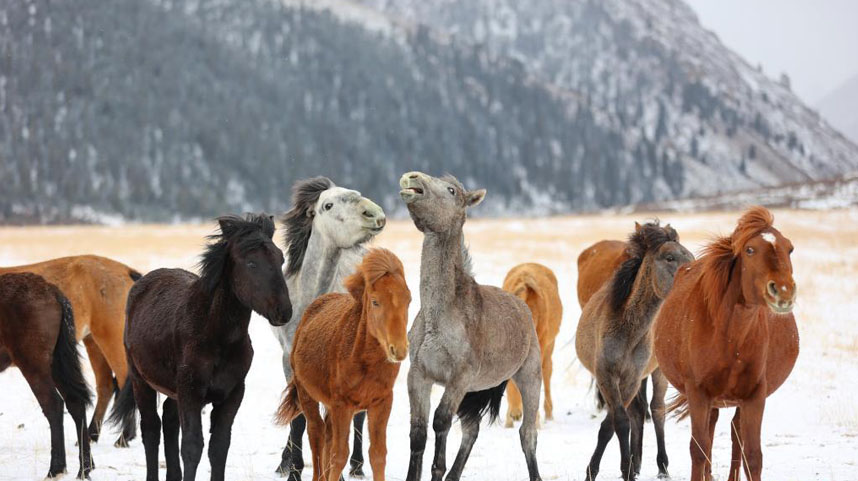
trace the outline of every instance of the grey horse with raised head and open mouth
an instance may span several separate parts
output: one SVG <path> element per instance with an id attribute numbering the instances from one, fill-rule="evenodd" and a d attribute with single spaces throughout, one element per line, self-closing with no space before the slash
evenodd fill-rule
<path id="1" fill-rule="evenodd" d="M 423 233 L 420 260 L 420 311 L 408 333 L 411 346 L 408 399 L 411 456 L 408 481 L 420 479 L 433 384 L 444 386 L 435 411 L 432 480 L 446 471 L 447 434 L 457 412 L 462 444 L 447 475 L 457 481 L 471 453 L 486 411 L 494 421 L 508 379 L 521 391 L 524 418 L 519 429 L 530 481 L 539 480 L 536 424 L 542 362 L 530 310 L 521 299 L 474 280 L 462 226 L 466 209 L 478 205 L 484 189 L 469 191 L 453 176 L 436 178 L 409 172 L 400 196 L 417 230 Z"/>

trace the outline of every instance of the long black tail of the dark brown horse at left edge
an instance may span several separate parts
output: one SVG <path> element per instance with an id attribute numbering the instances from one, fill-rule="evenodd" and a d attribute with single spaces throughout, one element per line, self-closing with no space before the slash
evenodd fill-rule
<path id="1" fill-rule="evenodd" d="M 57 302 L 62 309 L 60 330 L 54 356 L 51 360 L 51 375 L 60 388 L 66 403 L 80 401 L 86 407 L 92 406 L 92 391 L 83 377 L 80 367 L 80 352 L 74 334 L 74 311 L 71 303 L 61 292 L 56 292 Z"/>

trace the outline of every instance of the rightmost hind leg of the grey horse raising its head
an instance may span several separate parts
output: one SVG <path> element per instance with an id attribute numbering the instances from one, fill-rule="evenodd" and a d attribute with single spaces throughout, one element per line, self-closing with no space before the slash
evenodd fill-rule
<path id="1" fill-rule="evenodd" d="M 539 422 L 539 391 L 542 387 L 542 361 L 537 343 L 531 343 L 527 359 L 512 379 L 521 390 L 524 408 L 524 418 L 518 430 L 521 449 L 524 451 L 530 481 L 537 481 L 540 477 L 536 462 L 536 427 Z"/>

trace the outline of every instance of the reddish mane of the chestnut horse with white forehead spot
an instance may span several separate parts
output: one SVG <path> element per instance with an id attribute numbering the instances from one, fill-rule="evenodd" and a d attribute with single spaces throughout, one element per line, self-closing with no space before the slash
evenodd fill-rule
<path id="1" fill-rule="evenodd" d="M 765 207 L 751 207 L 739 218 L 731 235 L 718 237 L 703 248 L 700 257 L 703 271 L 701 286 L 710 313 L 714 315 L 716 306 L 713 301 L 724 293 L 730 283 L 733 262 L 742 253 L 742 247 L 754 236 L 770 229 L 774 221 L 775 217 Z"/>

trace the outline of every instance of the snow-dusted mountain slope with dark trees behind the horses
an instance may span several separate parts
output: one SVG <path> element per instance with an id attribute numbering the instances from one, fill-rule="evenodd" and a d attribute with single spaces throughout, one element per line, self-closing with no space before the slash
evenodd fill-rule
<path id="1" fill-rule="evenodd" d="M 395 210 L 412 169 L 548 214 L 836 177 L 858 148 L 673 0 L 0 5 L 0 221 L 279 212 L 319 174 Z"/>

